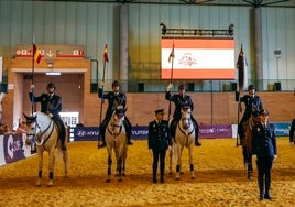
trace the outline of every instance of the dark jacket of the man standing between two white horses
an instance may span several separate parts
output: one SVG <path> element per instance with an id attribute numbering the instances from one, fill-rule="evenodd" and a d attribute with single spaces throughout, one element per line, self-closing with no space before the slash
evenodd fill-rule
<path id="1" fill-rule="evenodd" d="M 160 123 L 156 120 L 149 123 L 149 149 L 156 151 L 165 151 L 168 145 L 172 145 L 171 134 L 168 130 L 168 121 L 162 120 Z"/>

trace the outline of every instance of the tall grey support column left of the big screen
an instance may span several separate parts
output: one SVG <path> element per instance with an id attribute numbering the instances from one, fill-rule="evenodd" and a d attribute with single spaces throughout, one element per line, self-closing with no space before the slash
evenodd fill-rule
<path id="1" fill-rule="evenodd" d="M 120 79 L 122 80 L 122 90 L 128 91 L 128 3 L 120 7 Z"/>

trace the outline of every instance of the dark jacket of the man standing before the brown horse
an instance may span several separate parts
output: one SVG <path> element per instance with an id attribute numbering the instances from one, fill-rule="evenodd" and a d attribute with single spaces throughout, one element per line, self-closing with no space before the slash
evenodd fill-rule
<path id="1" fill-rule="evenodd" d="M 274 124 L 267 123 L 264 128 L 258 123 L 252 129 L 252 153 L 258 157 L 274 157 L 277 155 Z"/>

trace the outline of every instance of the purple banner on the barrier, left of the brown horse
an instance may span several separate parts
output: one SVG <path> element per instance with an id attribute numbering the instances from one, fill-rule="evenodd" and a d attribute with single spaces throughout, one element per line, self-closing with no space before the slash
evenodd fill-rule
<path id="1" fill-rule="evenodd" d="M 199 138 L 232 138 L 230 124 L 199 126 Z"/>

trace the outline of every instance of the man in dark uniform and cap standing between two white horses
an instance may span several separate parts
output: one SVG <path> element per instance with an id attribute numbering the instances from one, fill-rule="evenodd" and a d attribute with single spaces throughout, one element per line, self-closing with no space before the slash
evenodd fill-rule
<path id="1" fill-rule="evenodd" d="M 166 150 L 172 145 L 168 121 L 164 120 L 164 109 L 155 110 L 155 120 L 149 123 L 149 150 L 153 155 L 153 183 L 156 183 L 156 171 L 160 157 L 160 182 L 164 183 Z"/>

